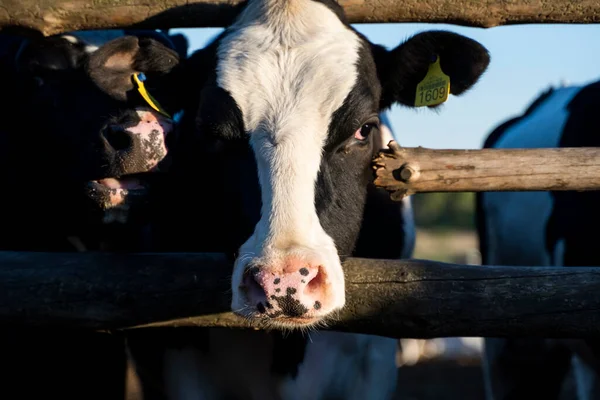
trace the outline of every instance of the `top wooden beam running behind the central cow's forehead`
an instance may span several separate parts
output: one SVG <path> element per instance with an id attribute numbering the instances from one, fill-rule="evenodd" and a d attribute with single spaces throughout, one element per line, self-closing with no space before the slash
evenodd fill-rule
<path id="1" fill-rule="evenodd" d="M 80 29 L 220 27 L 241 0 L 2 0 L 0 27 L 51 35 Z M 597 23 L 600 3 L 566 0 L 340 0 L 350 22 L 439 22 L 493 27 Z"/>

